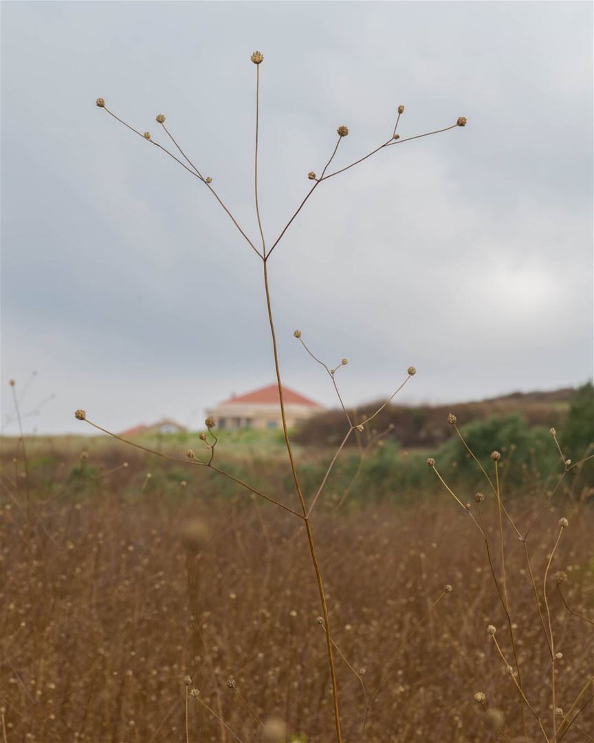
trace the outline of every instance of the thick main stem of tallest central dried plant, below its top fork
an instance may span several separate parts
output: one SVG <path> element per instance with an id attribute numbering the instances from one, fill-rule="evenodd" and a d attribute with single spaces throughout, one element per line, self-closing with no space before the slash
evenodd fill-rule
<path id="1" fill-rule="evenodd" d="M 269 253 L 270 256 L 270 253 Z M 268 256 L 267 256 L 268 257 Z M 322 573 L 320 572 L 318 557 L 316 555 L 316 547 L 313 542 L 313 533 L 311 531 L 310 519 L 307 517 L 307 506 L 301 492 L 301 485 L 299 484 L 299 478 L 293 458 L 293 450 L 291 448 L 289 431 L 287 428 L 287 416 L 284 412 L 284 397 L 283 388 L 281 383 L 281 369 L 278 363 L 278 348 L 276 345 L 276 333 L 274 328 L 274 320 L 272 318 L 272 304 L 270 302 L 270 286 L 268 283 L 268 267 L 267 259 L 264 260 L 264 290 L 266 293 L 266 304 L 268 312 L 268 321 L 270 324 L 270 335 L 272 337 L 272 352 L 274 355 L 274 366 L 276 372 L 276 383 L 278 386 L 278 398 L 281 403 L 281 421 L 283 425 L 284 441 L 287 446 L 287 455 L 289 457 L 289 463 L 291 467 L 291 473 L 293 475 L 293 482 L 295 484 L 296 493 L 301 503 L 301 509 L 303 510 L 305 531 L 307 532 L 307 542 L 310 547 L 311 559 L 313 562 L 313 569 L 316 572 L 316 581 L 318 583 L 318 590 L 320 594 L 320 600 L 322 602 L 322 615 L 324 617 L 324 626 L 326 629 L 326 647 L 328 653 L 328 662 L 330 663 L 330 677 L 332 678 L 332 698 L 334 707 L 334 722 L 336 725 L 336 740 L 338 743 L 342 743 L 342 733 L 340 730 L 340 712 L 339 712 L 339 696 L 338 696 L 338 685 L 336 683 L 336 667 L 334 665 L 334 656 L 332 652 L 332 637 L 330 635 L 330 617 L 328 616 L 328 607 L 326 603 L 326 594 L 324 591 L 324 582 L 322 580 Z"/>

